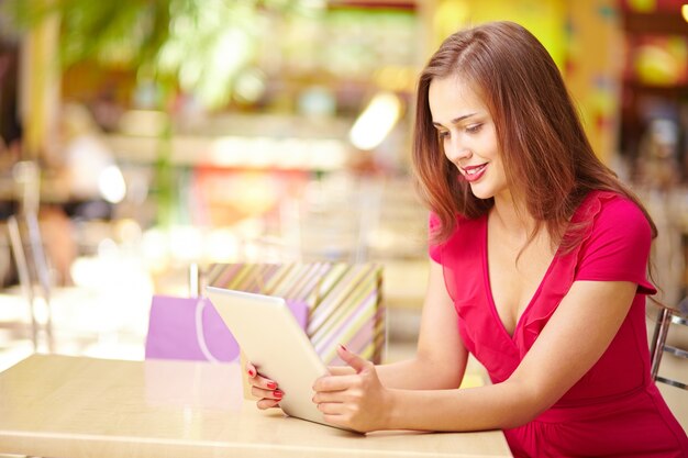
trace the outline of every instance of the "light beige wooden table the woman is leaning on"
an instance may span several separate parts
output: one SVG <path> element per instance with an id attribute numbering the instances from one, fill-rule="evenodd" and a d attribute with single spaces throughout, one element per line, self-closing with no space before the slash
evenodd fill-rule
<path id="1" fill-rule="evenodd" d="M 33 355 L 0 372 L 0 453 L 40 457 L 510 457 L 501 432 L 357 435 L 258 411 L 238 365 Z"/>

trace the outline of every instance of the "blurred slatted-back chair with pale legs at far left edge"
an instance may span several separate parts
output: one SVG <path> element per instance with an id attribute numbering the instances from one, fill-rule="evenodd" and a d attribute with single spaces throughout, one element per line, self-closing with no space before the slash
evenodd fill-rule
<path id="1" fill-rule="evenodd" d="M 21 213 L 10 216 L 8 219 L 8 232 L 21 291 L 29 305 L 34 350 L 38 348 L 41 334 L 41 323 L 37 320 L 36 310 L 38 303 L 43 302 L 45 308 L 44 331 L 48 350 L 53 351 L 51 276 L 35 213 Z"/>

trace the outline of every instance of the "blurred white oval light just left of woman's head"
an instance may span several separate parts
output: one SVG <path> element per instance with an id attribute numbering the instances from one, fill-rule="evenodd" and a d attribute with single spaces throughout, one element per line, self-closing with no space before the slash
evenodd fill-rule
<path id="1" fill-rule="evenodd" d="M 389 135 L 400 115 L 401 100 L 391 92 L 380 92 L 360 113 L 348 137 L 358 149 L 374 149 Z"/>

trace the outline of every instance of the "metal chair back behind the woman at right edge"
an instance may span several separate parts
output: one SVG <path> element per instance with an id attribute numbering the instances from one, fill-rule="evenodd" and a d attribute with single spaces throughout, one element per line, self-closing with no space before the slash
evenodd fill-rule
<path id="1" fill-rule="evenodd" d="M 661 306 L 650 348 L 652 358 L 652 378 L 655 381 L 680 388 L 683 390 L 688 390 L 688 384 L 686 384 L 686 381 L 679 381 L 674 378 L 661 376 L 659 367 L 662 365 L 663 356 L 665 353 L 668 353 L 673 357 L 684 360 L 688 358 L 688 350 L 679 348 L 675 345 L 669 345 L 667 343 L 669 331 L 686 332 L 686 329 L 688 329 L 688 313 L 686 312 L 687 309 L 688 297 L 679 303 L 678 309 Z M 679 338 L 674 338 L 673 342 L 676 342 L 676 345 L 681 345 Z M 684 361 L 684 365 L 688 368 L 688 364 Z M 681 373 L 688 373 L 688 371 L 684 369 Z"/>

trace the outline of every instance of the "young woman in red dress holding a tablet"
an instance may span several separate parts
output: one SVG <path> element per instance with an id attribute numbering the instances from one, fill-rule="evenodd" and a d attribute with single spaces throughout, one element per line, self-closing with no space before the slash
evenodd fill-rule
<path id="1" fill-rule="evenodd" d="M 313 387 L 325 420 L 500 428 L 517 457 L 688 456 L 650 377 L 654 224 L 537 40 L 509 22 L 450 36 L 420 77 L 413 155 L 432 258 L 418 355 L 375 367 L 340 348 L 349 367 Z M 492 384 L 457 389 L 468 353 Z M 258 407 L 278 405 L 247 370 Z"/>

